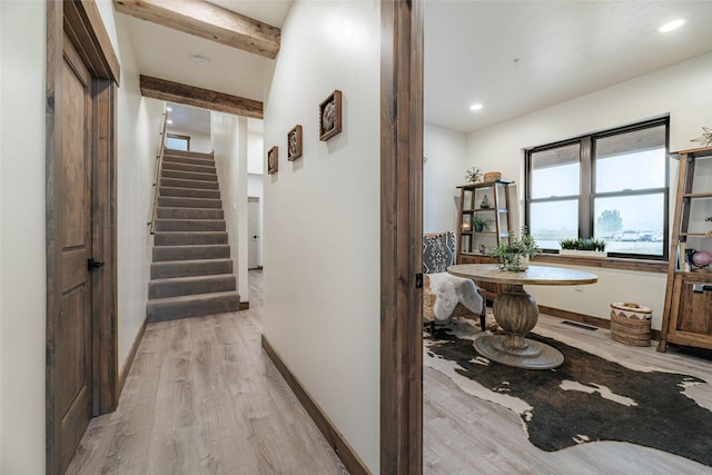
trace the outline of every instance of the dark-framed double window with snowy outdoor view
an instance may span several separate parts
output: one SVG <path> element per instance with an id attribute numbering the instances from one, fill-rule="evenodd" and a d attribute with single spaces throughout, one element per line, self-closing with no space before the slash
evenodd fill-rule
<path id="1" fill-rule="evenodd" d="M 595 238 L 612 257 L 668 258 L 669 119 L 526 151 L 526 224 L 536 243 Z"/>

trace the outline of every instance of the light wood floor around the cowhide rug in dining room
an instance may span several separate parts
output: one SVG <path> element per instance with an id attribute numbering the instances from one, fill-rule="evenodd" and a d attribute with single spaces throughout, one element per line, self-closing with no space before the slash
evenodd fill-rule
<path id="1" fill-rule="evenodd" d="M 611 340 L 609 330 L 590 331 L 540 316 L 536 333 L 616 360 L 635 369 L 655 368 L 698 376 L 712 383 L 712 363 L 656 353 Z M 442 373 L 424 367 L 424 473 L 455 474 L 712 474 L 712 468 L 672 454 L 616 442 L 596 442 L 548 453 L 532 445 L 511 410 L 459 389 Z M 709 387 L 695 400 L 712 410 Z M 671 408 L 671 410 L 674 410 Z M 712 427 L 700 427 L 712 432 Z M 675 437 L 675 434 L 670 434 Z M 712 451 L 712 446 L 710 447 Z"/>

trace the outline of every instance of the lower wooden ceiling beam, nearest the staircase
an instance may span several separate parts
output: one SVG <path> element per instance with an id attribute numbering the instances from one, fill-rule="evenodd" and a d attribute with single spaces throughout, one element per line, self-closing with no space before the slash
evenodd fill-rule
<path id="1" fill-rule="evenodd" d="M 154 99 L 202 109 L 217 110 L 234 113 L 236 116 L 263 118 L 263 102 L 230 96 L 224 92 L 211 91 L 195 86 L 181 85 L 166 79 L 140 76 L 141 95 Z"/>

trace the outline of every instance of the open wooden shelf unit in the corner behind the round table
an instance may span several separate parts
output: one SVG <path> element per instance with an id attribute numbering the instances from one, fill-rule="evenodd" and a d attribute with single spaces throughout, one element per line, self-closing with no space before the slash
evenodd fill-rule
<path id="1" fill-rule="evenodd" d="M 457 222 L 457 264 L 494 264 L 490 249 L 506 239 L 511 224 L 510 185 L 514 181 L 496 180 L 468 184 L 459 189 L 459 219 Z M 482 227 L 476 221 L 482 221 Z M 477 283 L 493 299 L 498 285 Z"/>

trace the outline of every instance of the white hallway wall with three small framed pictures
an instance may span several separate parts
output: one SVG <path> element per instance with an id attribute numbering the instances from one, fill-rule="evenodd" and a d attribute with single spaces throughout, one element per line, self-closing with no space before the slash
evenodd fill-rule
<path id="1" fill-rule="evenodd" d="M 265 107 L 264 333 L 373 473 L 379 464 L 379 39 L 376 0 L 296 1 Z M 344 128 L 318 139 L 318 105 Z M 301 125 L 304 156 L 286 159 Z"/>

